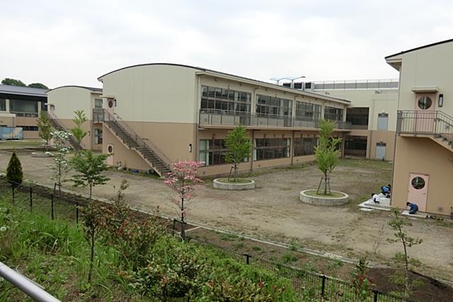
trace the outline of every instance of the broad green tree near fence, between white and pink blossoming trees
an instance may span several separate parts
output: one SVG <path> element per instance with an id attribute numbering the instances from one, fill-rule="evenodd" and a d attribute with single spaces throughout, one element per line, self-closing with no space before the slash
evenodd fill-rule
<path id="1" fill-rule="evenodd" d="M 102 175 L 103 171 L 108 169 L 105 159 L 108 154 L 96 155 L 92 151 L 81 151 L 79 156 L 71 160 L 71 165 L 76 170 L 76 175 L 72 176 L 74 187 L 89 187 L 90 199 L 92 197 L 93 187 L 96 185 L 105 185 L 110 178 Z"/>

